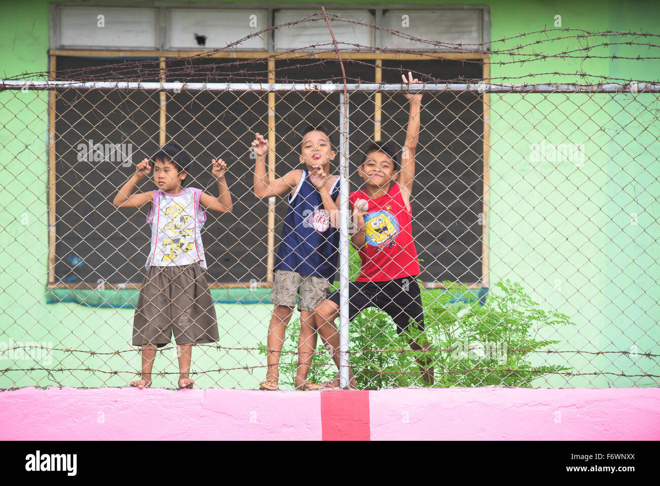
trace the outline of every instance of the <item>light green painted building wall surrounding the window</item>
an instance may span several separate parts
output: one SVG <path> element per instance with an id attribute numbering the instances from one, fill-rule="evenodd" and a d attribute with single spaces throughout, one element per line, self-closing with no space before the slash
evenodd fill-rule
<path id="1" fill-rule="evenodd" d="M 138 2 L 136 2 L 138 3 Z M 353 3 L 353 2 L 346 2 Z M 384 5 L 388 2 L 380 2 Z M 397 2 L 405 3 L 405 2 Z M 415 2 L 436 5 L 436 2 Z M 466 2 L 471 3 L 471 2 Z M 483 4 L 486 2 L 475 2 Z M 310 2 L 317 9 L 319 3 Z M 488 3 L 492 22 L 491 39 L 509 39 L 521 32 L 552 28 L 554 15 L 562 16 L 562 27 L 587 31 L 634 30 L 656 32 L 660 5 L 633 2 L 498 1 Z M 48 69 L 48 1 L 0 4 L 0 75 L 14 77 Z M 556 36 L 556 34 L 552 34 Z M 568 33 L 566 34 L 568 35 Z M 545 34 L 505 40 L 494 49 L 513 48 L 545 40 Z M 650 40 L 649 40 L 650 39 Z M 639 42 L 657 44 L 653 38 Z M 589 40 L 591 42 L 591 40 Z M 585 45 L 585 40 L 557 40 L 551 46 L 531 46 L 523 52 L 558 53 Z M 593 45 L 593 42 L 592 44 Z M 604 46 L 599 55 L 654 55 L 644 46 Z M 508 56 L 492 56 L 494 78 L 504 82 L 584 82 L 574 75 L 586 73 L 612 79 L 657 79 L 657 60 L 562 59 L 509 63 Z M 503 64 L 498 64 L 502 61 Z M 544 73 L 530 78 L 530 73 Z M 523 78 L 521 78 L 523 77 Z M 588 81 L 597 81 L 589 78 Z M 139 367 L 135 351 L 128 351 L 133 310 L 90 308 L 76 304 L 46 304 L 44 298 L 48 267 L 46 166 L 47 106 L 43 92 L 0 92 L 0 204 L 5 208 L 0 226 L 1 326 L 4 336 L 15 341 L 52 342 L 64 351 L 53 352 L 53 368 L 129 369 Z M 537 297 L 543 308 L 556 308 L 578 325 L 559 334 L 563 351 L 626 349 L 658 353 L 657 322 L 659 285 L 660 164 L 657 154 L 659 128 L 656 94 L 504 94 L 491 95 L 490 152 L 490 279 L 519 281 Z M 530 146 L 546 143 L 584 144 L 585 162 L 533 163 Z M 631 224 L 632 213 L 637 225 Z M 220 345 L 253 347 L 265 339 L 271 308 L 268 305 L 218 304 L 220 327 L 228 335 Z M 230 334 L 230 335 L 229 335 Z M 28 337 L 29 336 L 29 337 Z M 238 345 L 236 340 L 238 339 Z M 82 345 L 81 345 L 82 342 Z M 635 348 L 636 346 L 636 348 Z M 127 350 L 121 355 L 72 355 L 67 347 L 98 350 Z M 196 349 L 193 370 L 238 368 L 223 374 L 199 377 L 200 386 L 253 388 L 262 372 L 250 376 L 261 357 L 244 350 Z M 220 357 L 218 357 L 220 353 Z M 176 373 L 174 349 L 164 351 L 156 370 Z M 579 372 L 611 372 L 605 376 L 554 376 L 537 380 L 538 386 L 653 386 L 653 378 L 616 378 L 626 374 L 659 375 L 655 361 L 645 357 L 616 354 L 573 355 L 565 353 L 539 363 L 570 363 Z M 2 363 L 11 361 L 0 361 Z M 30 361 L 22 360 L 25 368 Z M 106 365 L 102 365 L 106 363 Z M 167 365 L 166 365 L 167 363 Z M 7 372 L 0 386 L 123 386 L 132 376 L 78 371 L 71 376 L 57 370 Z M 156 378 L 154 386 L 170 386 L 174 375 Z"/>

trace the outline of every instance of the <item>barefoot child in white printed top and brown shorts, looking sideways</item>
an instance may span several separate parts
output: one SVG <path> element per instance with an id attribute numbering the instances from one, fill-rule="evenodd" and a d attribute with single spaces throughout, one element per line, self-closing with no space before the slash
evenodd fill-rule
<path id="1" fill-rule="evenodd" d="M 179 388 L 192 388 L 189 377 L 192 345 L 218 341 L 218 324 L 209 284 L 204 277 L 206 258 L 201 229 L 206 209 L 228 213 L 232 197 L 224 179 L 226 164 L 213 159 L 211 173 L 216 178 L 219 197 L 200 189 L 183 188 L 187 167 L 192 161 L 180 147 L 170 144 L 154 155 L 154 184 L 158 189 L 131 192 L 149 176 L 151 166 L 145 158 L 135 174 L 119 190 L 116 207 L 142 207 L 150 204 L 147 223 L 151 225 L 151 248 L 147 258 L 147 276 L 140 289 L 133 318 L 133 345 L 141 346 L 141 379 L 131 386 L 151 385 L 151 370 L 156 347 L 172 340 L 177 344 Z"/>

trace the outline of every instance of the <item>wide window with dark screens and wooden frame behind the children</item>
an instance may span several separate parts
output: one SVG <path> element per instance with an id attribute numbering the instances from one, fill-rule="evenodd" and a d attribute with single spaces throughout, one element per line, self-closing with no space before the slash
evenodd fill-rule
<path id="1" fill-rule="evenodd" d="M 273 61 L 251 61 L 264 59 L 269 52 L 282 52 L 313 43 L 302 39 L 292 27 L 288 33 L 283 29 L 281 35 L 276 34 L 272 38 L 265 36 L 265 40 L 259 41 L 263 41 L 263 44 L 258 46 L 248 42 L 236 46 L 231 52 L 220 51 L 192 61 L 178 58 L 239 39 L 238 33 L 230 35 L 232 30 L 224 32 L 224 37 L 215 36 L 215 31 L 209 30 L 211 27 L 219 32 L 224 23 L 235 25 L 247 15 L 248 22 L 253 22 L 253 30 L 258 31 L 263 28 L 262 22 L 277 24 L 304 17 L 294 9 L 276 9 L 270 13 L 266 9 L 250 9 L 249 15 L 256 17 L 249 18 L 248 11 L 240 9 L 223 10 L 218 17 L 218 11 L 209 9 L 165 8 L 158 11 L 117 7 L 117 16 L 106 17 L 106 22 L 110 20 L 112 24 L 113 18 L 122 18 L 121 15 L 125 16 L 127 11 L 155 10 L 158 11 L 154 17 L 156 26 L 162 25 L 162 18 L 166 18 L 168 26 L 166 29 L 156 29 L 160 32 L 157 44 L 191 50 L 183 53 L 154 50 L 150 47 L 150 41 L 143 42 L 139 40 L 141 38 L 136 38 L 136 46 L 131 52 L 119 53 L 110 49 L 113 47 L 112 42 L 104 44 L 106 41 L 102 40 L 102 36 L 96 38 L 100 34 L 94 34 L 94 30 L 86 33 L 81 31 L 80 40 L 74 41 L 67 37 L 69 33 L 64 30 L 74 25 L 81 26 L 80 22 L 75 24 L 72 18 L 80 20 L 87 18 L 84 15 L 90 15 L 84 8 L 88 7 L 53 5 L 55 35 L 51 40 L 55 39 L 55 46 L 50 54 L 51 69 L 56 68 L 57 73 L 68 69 L 96 69 L 94 72 L 97 74 L 108 73 L 108 79 L 116 79 L 119 75 L 134 77 L 138 73 L 131 63 L 127 67 L 106 66 L 123 63 L 126 57 L 146 57 L 152 59 L 152 63 L 139 72 L 145 81 L 158 80 L 159 63 L 164 63 L 170 73 L 166 81 L 181 81 L 185 76 L 189 81 L 266 82 L 271 68 L 275 69 L 275 77 L 279 82 L 287 79 L 310 79 L 321 83 L 341 81 L 338 63 L 319 65 L 318 57 L 331 57 L 325 53 L 306 55 L 299 52 L 294 57 L 281 53 Z M 438 12 L 411 8 L 414 13 L 411 16 L 413 26 L 415 18 L 424 18 L 427 14 L 432 17 Z M 71 14 L 77 11 L 75 15 Z M 147 15 L 145 12 L 140 15 Z M 463 11 L 458 9 L 451 12 Z M 485 14 L 482 7 L 476 9 L 478 15 L 466 12 L 466 15 L 461 14 L 461 22 L 473 22 L 473 28 L 466 30 L 465 42 L 480 42 L 484 32 L 488 32 L 487 26 L 483 27 L 487 20 L 487 9 Z M 449 11 L 445 11 L 443 18 L 451 18 L 449 14 Z M 392 23 L 393 18 L 400 18 L 398 11 L 341 10 L 341 15 L 365 23 L 374 23 L 380 19 L 378 21 L 383 26 L 388 26 L 387 22 Z M 201 22 L 202 18 L 204 22 Z M 213 20 L 215 18 L 224 19 L 224 23 L 219 24 Z M 317 24 L 325 34 L 327 26 L 322 22 Z M 405 29 L 399 25 L 398 30 Z M 321 35 L 320 32 L 314 35 Z M 335 30 L 335 36 L 338 32 L 342 32 L 341 27 Z M 414 30 L 411 32 L 414 35 Z M 193 34 L 205 35 L 205 46 L 199 46 Z M 371 38 L 382 35 L 367 27 L 357 29 L 356 32 L 351 30 L 348 44 L 371 44 Z M 453 38 L 451 35 L 449 38 Z M 330 39 L 329 36 L 327 39 Z M 269 44 L 273 50 L 264 50 L 264 46 Z M 73 49 L 72 46 L 77 48 Z M 255 52 L 248 48 L 255 49 Z M 350 45 L 344 48 L 348 50 Z M 123 57 L 118 59 L 119 55 Z M 376 52 L 343 53 L 349 82 L 368 83 L 381 79 L 396 83 L 401 79 L 401 72 L 408 70 L 426 73 L 438 79 L 483 79 L 487 77 L 480 62 L 484 56 L 451 53 L 439 59 L 437 54 L 424 56 L 409 53 L 398 55 L 400 59 L 391 59 L 391 55 Z M 470 59 L 470 62 L 459 59 Z M 185 71 L 191 63 L 195 73 L 203 72 L 204 75 L 196 79 L 186 75 Z M 246 73 L 248 65 L 249 72 Z M 203 69 L 200 71 L 201 67 Z M 112 148 L 119 145 L 121 149 L 122 144 L 131 144 L 132 161 L 137 162 L 137 158 L 153 153 L 162 141 L 170 140 L 183 145 L 195 159 L 195 166 L 191 168 L 191 176 L 195 180 L 193 183 L 191 178 L 188 186 L 194 184 L 215 193 L 217 188 L 208 170 L 211 158 L 221 156 L 228 163 L 227 179 L 234 199 L 234 212 L 221 217 L 209 215 L 203 232 L 209 263 L 209 283 L 213 287 L 227 287 L 243 286 L 251 279 L 272 282 L 273 254 L 279 244 L 286 202 L 283 199 L 278 199 L 277 203 L 257 200 L 252 193 L 254 160 L 249 157 L 248 147 L 253 132 L 267 133 L 269 123 L 273 123 L 276 137 L 273 169 L 281 176 L 287 170 L 300 166 L 296 155 L 298 138 L 295 133 L 302 123 L 325 122 L 331 129 L 339 126 L 337 93 L 278 92 L 270 98 L 264 92 L 183 90 L 177 94 L 165 94 L 67 90 L 51 96 L 54 96 L 51 106 L 54 106 L 55 118 L 55 150 L 51 151 L 54 162 L 51 163 L 51 180 L 55 180 L 55 205 L 51 207 L 50 216 L 51 225 L 55 227 L 54 235 L 51 232 L 51 287 L 69 287 L 81 283 L 96 285 L 100 279 L 111 284 L 140 285 L 150 246 L 150 230 L 145 222 L 147 208 L 135 211 L 117 209 L 112 205 L 112 195 L 134 170 L 133 166 L 123 165 L 125 158 L 119 157 L 117 160 L 115 156 L 115 160 L 112 160 Z M 165 97 L 164 106 L 161 106 L 161 96 Z M 413 233 L 419 256 L 424 260 L 424 271 L 420 279 L 429 285 L 436 285 L 443 279 L 477 285 L 487 283 L 487 263 L 482 251 L 484 227 L 475 223 L 479 219 L 478 215 L 484 211 L 486 96 L 469 92 L 446 92 L 425 98 L 426 110 L 422 114 L 417 160 L 418 174 L 428 172 L 427 176 L 418 176 L 415 182 Z M 275 112 L 273 121 L 268 117 L 269 108 Z M 374 125 L 376 112 L 381 114 L 383 120 L 380 130 Z M 349 119 L 352 168 L 360 163 L 360 149 L 373 137 L 391 139 L 399 147 L 403 143 L 407 123 L 405 101 L 393 98 L 391 94 L 352 93 Z M 89 140 L 93 142 L 92 153 L 79 160 L 79 147 L 85 143 L 88 147 Z M 337 132 L 333 141 L 339 141 Z M 104 151 L 102 160 L 94 160 L 98 153 L 94 145 L 99 143 Z M 106 146 L 110 147 L 110 153 L 106 151 Z M 335 164 L 338 162 L 339 158 L 336 158 Z M 360 182 L 354 174 L 352 187 L 358 187 Z M 136 191 L 151 190 L 149 181 L 144 184 L 144 188 Z M 73 265 L 77 260 L 72 263 L 72 256 L 82 258 L 82 264 L 75 269 Z"/>

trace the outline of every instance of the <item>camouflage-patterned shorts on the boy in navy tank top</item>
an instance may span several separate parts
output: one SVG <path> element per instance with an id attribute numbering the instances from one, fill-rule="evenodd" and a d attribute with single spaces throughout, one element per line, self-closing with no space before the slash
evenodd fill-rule
<path id="1" fill-rule="evenodd" d="M 316 304 L 329 295 L 330 283 L 326 278 L 300 275 L 290 270 L 275 270 L 275 283 L 271 292 L 273 304 L 294 307 L 298 300 L 298 310 L 314 312 Z"/>

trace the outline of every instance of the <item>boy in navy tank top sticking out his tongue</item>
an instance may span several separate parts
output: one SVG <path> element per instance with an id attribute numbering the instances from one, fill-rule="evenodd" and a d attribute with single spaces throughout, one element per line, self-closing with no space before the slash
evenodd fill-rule
<path id="1" fill-rule="evenodd" d="M 274 180 L 269 180 L 266 172 L 268 141 L 256 133 L 252 142 L 257 155 L 255 195 L 265 198 L 288 194 L 288 211 L 274 266 L 271 302 L 275 308 L 267 336 L 268 372 L 259 390 L 279 387 L 280 353 L 296 301 L 300 311 L 296 390 L 321 388 L 308 382 L 306 376 L 316 348 L 314 308 L 329 295 L 330 283 L 337 273 L 339 232 L 331 219 L 336 223 L 339 216 L 339 176 L 328 175 L 330 162 L 335 158 L 329 135 L 323 126 L 310 125 L 304 129 L 299 158 L 306 168 L 291 170 Z"/>

